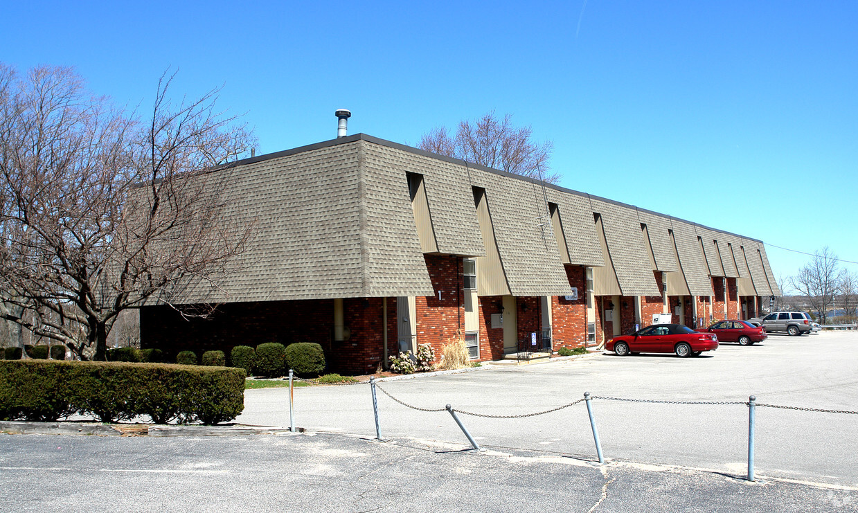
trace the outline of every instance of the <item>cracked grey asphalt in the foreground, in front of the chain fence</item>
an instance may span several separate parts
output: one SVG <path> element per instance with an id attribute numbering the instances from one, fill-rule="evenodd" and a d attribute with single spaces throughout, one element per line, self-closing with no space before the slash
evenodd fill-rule
<path id="1" fill-rule="evenodd" d="M 855 490 L 341 434 L 0 435 L 4 512 L 849 511 Z"/>

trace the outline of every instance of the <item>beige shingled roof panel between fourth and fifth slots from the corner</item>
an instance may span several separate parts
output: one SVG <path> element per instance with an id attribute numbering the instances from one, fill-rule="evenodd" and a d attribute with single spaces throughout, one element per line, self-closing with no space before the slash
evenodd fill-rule
<path id="1" fill-rule="evenodd" d="M 595 213 L 601 214 L 605 228 L 607 250 L 611 253 L 619 289 L 624 296 L 658 296 L 656 278 L 652 274 L 649 251 L 641 237 L 637 210 L 590 196 Z"/>

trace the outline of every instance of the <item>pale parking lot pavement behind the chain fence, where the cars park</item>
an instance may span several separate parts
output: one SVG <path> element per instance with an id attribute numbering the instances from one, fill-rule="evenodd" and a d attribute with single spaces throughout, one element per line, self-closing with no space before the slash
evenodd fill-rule
<path id="1" fill-rule="evenodd" d="M 662 401 L 747 401 L 858 409 L 858 333 L 770 335 L 750 347 L 723 344 L 711 355 L 566 360 L 492 371 L 381 383 L 409 405 L 494 415 L 535 413 L 595 396 Z M 746 473 L 745 405 L 681 405 L 595 399 L 595 421 L 607 458 Z M 288 425 L 286 389 L 248 390 L 239 422 Z M 383 437 L 462 442 L 446 412 L 408 409 L 379 391 Z M 375 434 L 368 385 L 295 389 L 296 424 L 311 432 Z M 551 450 L 595 458 L 583 404 L 526 419 L 461 415 L 490 448 Z M 758 407 L 756 472 L 789 480 L 858 486 L 858 415 Z"/>

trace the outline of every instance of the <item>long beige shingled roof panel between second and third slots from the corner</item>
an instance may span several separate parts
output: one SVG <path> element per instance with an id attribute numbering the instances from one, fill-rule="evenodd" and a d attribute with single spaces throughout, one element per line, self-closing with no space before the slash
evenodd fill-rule
<path id="1" fill-rule="evenodd" d="M 471 183 L 486 190 L 510 293 L 514 296 L 571 294 L 553 228 L 545 217 L 547 205 L 541 187 L 479 167 L 468 172 Z"/>

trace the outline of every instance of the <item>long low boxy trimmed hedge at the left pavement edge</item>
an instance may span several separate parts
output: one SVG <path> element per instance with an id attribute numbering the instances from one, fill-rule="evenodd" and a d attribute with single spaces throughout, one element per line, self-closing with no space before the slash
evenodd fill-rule
<path id="1" fill-rule="evenodd" d="M 0 361 L 0 419 L 217 424 L 244 409 L 245 373 L 227 367 L 124 362 Z"/>

